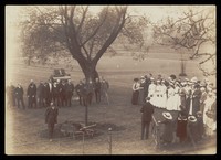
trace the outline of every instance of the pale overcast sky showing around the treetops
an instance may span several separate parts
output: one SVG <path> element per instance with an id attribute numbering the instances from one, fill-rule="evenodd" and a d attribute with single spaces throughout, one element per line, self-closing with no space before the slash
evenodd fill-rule
<path id="1" fill-rule="evenodd" d="M 19 33 L 18 26 L 13 26 L 18 21 L 22 20 L 21 9 L 29 6 L 6 6 L 6 36 L 8 50 L 18 50 L 15 47 L 14 36 Z M 48 6 L 50 7 L 50 6 Z M 54 7 L 54 6 L 53 6 Z M 104 6 L 91 6 L 91 11 L 96 13 Z M 215 6 L 128 6 L 128 13 L 131 15 L 146 14 L 151 22 L 157 22 L 168 15 L 177 18 L 189 8 L 193 9 L 211 9 L 215 10 Z M 11 47 L 13 44 L 14 47 Z"/>

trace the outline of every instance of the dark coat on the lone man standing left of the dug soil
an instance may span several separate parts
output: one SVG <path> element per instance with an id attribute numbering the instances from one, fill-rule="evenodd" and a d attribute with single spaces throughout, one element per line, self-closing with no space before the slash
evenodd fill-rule
<path id="1" fill-rule="evenodd" d="M 59 109 L 56 107 L 54 109 L 52 109 L 52 107 L 46 108 L 45 124 L 56 124 L 57 115 L 59 115 Z"/>

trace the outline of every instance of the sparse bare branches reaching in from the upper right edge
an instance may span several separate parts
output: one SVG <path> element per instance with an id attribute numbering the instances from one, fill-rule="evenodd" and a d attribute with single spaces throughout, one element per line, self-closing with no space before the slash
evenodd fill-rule
<path id="1" fill-rule="evenodd" d="M 156 43 L 182 50 L 190 60 L 198 58 L 204 76 L 217 74 L 215 8 L 190 8 L 177 19 L 168 17 L 152 25 Z"/>

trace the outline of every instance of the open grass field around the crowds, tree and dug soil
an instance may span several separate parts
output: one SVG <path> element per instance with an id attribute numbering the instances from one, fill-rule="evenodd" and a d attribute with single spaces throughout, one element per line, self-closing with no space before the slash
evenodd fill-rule
<path id="1" fill-rule="evenodd" d="M 160 58 L 161 57 L 161 58 Z M 171 58 L 169 58 L 171 57 Z M 215 141 L 204 140 L 194 150 L 191 146 L 179 146 L 175 143 L 167 149 L 156 150 L 154 139 L 140 140 L 140 106 L 130 104 L 131 85 L 134 77 L 152 73 L 154 76 L 161 74 L 168 77 L 170 74 L 180 73 L 180 62 L 175 56 L 158 54 L 144 62 L 133 61 L 128 56 L 102 57 L 97 71 L 110 84 L 109 102 L 97 105 L 94 99 L 88 107 L 88 120 L 97 122 L 107 128 L 102 128 L 101 135 L 93 139 L 86 139 L 84 146 L 85 154 L 108 154 L 108 125 L 113 127 L 113 154 L 186 154 L 186 153 L 215 153 Z M 76 84 L 83 74 L 76 63 L 71 73 L 73 83 Z M 57 66 L 62 67 L 62 66 Z M 24 90 L 31 78 L 36 84 L 46 81 L 53 68 L 44 66 L 24 66 L 13 61 L 7 65 L 7 83 L 22 83 Z M 203 78 L 193 61 L 187 62 L 188 77 L 197 76 Z M 76 95 L 75 95 L 76 96 Z M 24 96 L 25 97 L 25 96 Z M 27 99 L 24 98 L 27 102 Z M 49 142 L 45 132 L 44 108 L 18 109 L 6 106 L 6 152 L 8 154 L 82 154 L 81 140 L 55 139 Z M 84 121 L 84 107 L 73 100 L 70 108 L 60 108 L 59 122 L 65 120 Z"/>

